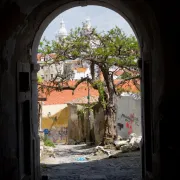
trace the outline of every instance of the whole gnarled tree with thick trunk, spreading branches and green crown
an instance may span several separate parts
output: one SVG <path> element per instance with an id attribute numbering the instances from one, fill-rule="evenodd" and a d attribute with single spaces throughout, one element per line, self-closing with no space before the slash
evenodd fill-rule
<path id="1" fill-rule="evenodd" d="M 46 85 L 46 88 L 57 91 L 75 90 L 80 83 L 88 81 L 99 92 L 99 103 L 105 115 L 105 134 L 102 144 L 109 144 L 117 137 L 115 95 L 120 95 L 124 91 L 123 85 L 128 82 L 134 83 L 139 88 L 138 42 L 134 36 L 126 36 L 118 27 L 107 33 L 98 33 L 96 29 L 92 29 L 91 33 L 87 34 L 82 32 L 83 28 L 75 28 L 59 42 L 52 41 L 51 47 L 46 44 L 45 49 L 48 51 L 50 49 L 57 54 L 54 62 L 66 59 L 80 59 L 88 62 L 91 68 L 91 77 L 82 78 L 76 82 L 75 86 L 65 83 L 66 79 L 56 82 L 55 78 L 53 82 Z M 97 68 L 99 73 L 95 73 Z M 119 70 L 123 72 L 122 79 L 116 84 L 113 75 Z M 103 79 L 99 79 L 100 73 Z"/>

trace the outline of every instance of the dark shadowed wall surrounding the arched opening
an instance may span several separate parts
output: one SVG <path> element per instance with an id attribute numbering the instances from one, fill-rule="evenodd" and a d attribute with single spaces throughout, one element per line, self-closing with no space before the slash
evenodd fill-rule
<path id="1" fill-rule="evenodd" d="M 36 63 L 37 46 L 48 24 L 63 11 L 86 5 L 99 5 L 116 11 L 134 30 L 142 57 L 144 177 L 175 179 L 173 176 L 177 174 L 178 166 L 173 161 L 179 152 L 175 143 L 175 139 L 178 141 L 179 137 L 178 126 L 169 129 L 169 120 L 179 117 L 178 106 L 175 106 L 179 103 L 175 92 L 180 89 L 180 84 L 177 83 L 179 53 L 178 50 L 175 51 L 178 46 L 176 39 L 179 18 L 176 16 L 179 14 L 179 6 L 175 2 L 172 4 L 148 0 L 4 0 L 1 3 L 0 135 L 3 147 L 0 154 L 3 155 L 0 156 L 0 162 L 3 162 L 4 173 L 0 173 L 0 179 L 20 179 L 19 166 L 24 165 L 18 159 L 21 152 L 17 128 L 21 112 L 19 103 L 23 98 L 29 98 L 30 104 L 26 102 L 24 106 L 31 108 L 28 116 L 31 134 L 28 141 L 31 160 L 28 163 L 32 168 L 31 179 L 39 178 L 36 70 L 31 63 Z M 174 33 L 170 33 L 172 29 Z M 34 71 L 29 71 L 31 87 L 27 88 L 29 94 L 25 95 L 18 89 L 21 81 L 18 64 L 22 62 Z M 7 162 L 11 163 L 7 165 Z"/>

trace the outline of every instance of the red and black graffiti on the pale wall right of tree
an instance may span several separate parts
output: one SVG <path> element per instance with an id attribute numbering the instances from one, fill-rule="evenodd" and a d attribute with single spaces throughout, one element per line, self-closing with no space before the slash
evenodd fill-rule
<path id="1" fill-rule="evenodd" d="M 134 113 L 131 113 L 129 116 L 122 114 L 121 118 L 125 119 L 125 122 L 126 122 L 125 127 L 128 129 L 128 134 L 131 134 L 133 132 L 133 129 L 132 129 L 133 123 L 136 126 L 139 126 L 139 119 L 137 117 L 135 117 Z M 122 123 L 117 123 L 117 125 L 120 130 L 124 128 L 124 124 L 122 124 Z"/>

